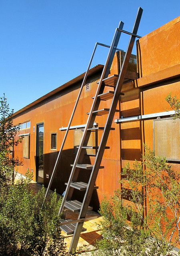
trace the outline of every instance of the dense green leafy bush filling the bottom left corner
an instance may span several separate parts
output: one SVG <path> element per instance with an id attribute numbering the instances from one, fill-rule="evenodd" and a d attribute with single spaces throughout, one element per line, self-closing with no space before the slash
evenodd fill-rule
<path id="1" fill-rule="evenodd" d="M 44 187 L 33 195 L 30 180 L 28 173 L 0 195 L 0 255 L 68 255 L 58 227 L 61 200 L 54 192 L 42 204 Z"/>

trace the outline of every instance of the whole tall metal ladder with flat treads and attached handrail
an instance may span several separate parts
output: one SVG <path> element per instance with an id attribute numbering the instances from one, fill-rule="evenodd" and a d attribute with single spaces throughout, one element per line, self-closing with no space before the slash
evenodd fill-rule
<path id="1" fill-rule="evenodd" d="M 92 192 L 93 192 L 94 189 L 97 188 L 96 186 L 94 186 L 95 181 L 96 181 L 96 177 L 97 177 L 97 174 L 98 174 L 98 170 L 100 168 L 103 168 L 103 166 L 100 166 L 100 163 L 102 161 L 102 156 L 104 154 L 104 150 L 106 148 L 108 148 L 108 147 L 106 147 L 106 142 L 107 142 L 107 139 L 108 139 L 109 132 L 111 130 L 111 125 L 112 125 L 112 121 L 113 121 L 113 118 L 114 118 L 114 113 L 116 112 L 116 106 L 118 104 L 118 100 L 119 100 L 119 97 L 120 97 L 120 94 L 121 94 L 122 84 L 123 84 L 124 78 L 126 76 L 128 63 L 129 63 L 130 55 L 131 55 L 132 48 L 133 48 L 133 45 L 134 45 L 134 41 L 135 41 L 136 37 L 140 38 L 140 36 L 137 35 L 137 31 L 138 31 L 138 27 L 139 27 L 139 24 L 140 24 L 141 16 L 142 16 L 142 8 L 139 7 L 132 33 L 127 32 L 125 30 L 122 30 L 124 23 L 120 22 L 118 28 L 116 28 L 116 30 L 115 30 L 115 34 L 114 34 L 114 38 L 112 40 L 111 46 L 96 43 L 96 45 L 94 47 L 94 50 L 92 52 L 92 56 L 91 56 L 91 59 L 90 59 L 90 63 L 88 65 L 88 69 L 86 71 L 86 74 L 84 76 L 84 79 L 83 79 L 83 82 L 82 82 L 82 85 L 81 85 L 81 88 L 80 88 L 80 92 L 78 94 L 78 98 L 77 98 L 75 106 L 74 106 L 74 110 L 73 110 L 71 118 L 70 118 L 70 122 L 69 122 L 67 130 L 66 130 L 66 134 L 64 136 L 64 140 L 63 140 L 61 148 L 60 148 L 60 152 L 58 154 L 58 158 L 56 160 L 56 164 L 54 166 L 54 170 L 52 172 L 52 176 L 51 176 L 51 179 L 50 179 L 50 182 L 49 182 L 49 185 L 48 185 L 48 189 L 46 191 L 45 198 L 48 195 L 48 192 L 50 190 L 50 186 L 52 184 L 52 181 L 53 181 L 53 178 L 54 178 L 57 166 L 58 166 L 58 162 L 60 161 L 60 156 L 62 154 L 62 148 L 63 148 L 64 143 L 66 141 L 66 137 L 67 137 L 68 131 L 70 129 L 72 118 L 73 118 L 74 113 L 76 111 L 76 107 L 77 107 L 77 104 L 78 104 L 78 100 L 80 98 L 80 94 L 82 92 L 82 88 L 83 88 L 83 86 L 86 82 L 86 78 L 88 76 L 88 71 L 90 69 L 90 65 L 92 63 L 92 59 L 94 57 L 96 47 L 97 47 L 98 44 L 102 45 L 102 46 L 110 47 L 110 50 L 109 50 L 109 53 L 108 53 L 108 56 L 107 56 L 107 59 L 106 59 L 106 63 L 104 65 L 100 80 L 98 82 L 98 87 L 97 87 L 97 90 L 96 90 L 96 94 L 93 97 L 94 100 L 92 102 L 90 112 L 88 113 L 88 115 L 89 115 L 88 120 L 86 122 L 85 128 L 83 129 L 84 133 L 82 135 L 80 146 L 78 147 L 78 152 L 76 154 L 74 164 L 72 165 L 72 171 L 71 171 L 69 180 L 66 183 L 66 185 L 67 185 L 66 186 L 66 191 L 64 193 L 64 197 L 63 197 L 63 200 L 62 200 L 62 205 L 61 205 L 61 208 L 59 210 L 60 214 L 62 214 L 62 212 L 64 213 L 65 209 L 70 209 L 73 212 L 80 212 L 79 216 L 78 216 L 78 219 L 76 221 L 69 220 L 69 221 L 66 222 L 66 220 L 63 220 L 62 224 L 61 224 L 62 225 L 61 226 L 62 230 L 66 231 L 68 234 L 73 234 L 72 242 L 71 242 L 70 249 L 69 249 L 70 252 L 72 252 L 73 249 L 76 250 L 78 240 L 79 240 L 79 237 L 80 237 L 80 232 L 82 231 L 82 226 L 84 224 L 84 221 L 87 220 L 85 217 L 86 217 L 87 211 L 90 209 L 89 208 L 89 203 L 90 203 L 90 199 L 91 199 L 91 196 L 92 196 Z M 119 49 L 117 49 L 117 46 L 118 46 L 118 42 L 119 42 L 119 39 L 120 39 L 121 32 L 124 32 L 126 34 L 130 34 L 130 41 L 129 41 L 129 44 L 128 44 L 128 48 L 127 48 L 126 54 L 124 56 L 124 61 L 123 61 L 122 68 L 120 70 L 119 76 L 108 77 L 108 74 L 110 72 L 110 67 L 111 67 L 111 64 L 112 64 L 112 60 L 114 58 L 114 54 L 115 54 L 116 50 L 119 50 Z M 103 93 L 105 86 L 114 86 L 114 92 L 109 92 L 109 94 L 111 96 L 109 96 L 109 95 L 107 96 L 107 92 Z M 100 105 L 100 101 L 101 100 L 109 100 L 109 99 L 112 99 L 111 103 L 110 103 L 110 108 L 103 109 L 103 110 L 98 110 L 98 107 Z M 92 130 L 94 130 L 93 125 L 94 125 L 95 117 L 96 117 L 96 115 L 103 115 L 103 114 L 108 114 L 108 116 L 107 116 L 107 119 L 106 119 L 106 124 L 103 128 L 103 133 L 102 133 L 102 137 L 101 137 L 101 140 L 100 140 L 100 144 L 98 146 L 98 151 L 97 151 L 97 154 L 96 154 L 96 157 L 95 157 L 94 164 L 93 165 L 86 164 L 84 162 L 84 155 L 85 155 L 86 149 L 90 148 L 90 147 L 87 146 L 87 144 L 88 144 L 88 140 L 90 138 L 90 133 L 91 133 Z M 81 169 L 86 169 L 87 172 L 90 172 L 89 173 L 88 184 L 86 184 L 84 182 L 81 182 L 81 181 L 78 181 L 78 174 L 79 174 Z M 84 195 L 84 199 L 83 199 L 82 203 L 78 202 L 78 200 L 71 200 L 74 189 L 78 189 L 80 191 L 85 191 L 85 195 Z M 64 216 L 65 216 L 65 214 L 64 214 Z M 66 222 L 66 225 L 64 224 L 64 222 Z M 76 222 L 76 225 L 73 225 L 74 222 Z M 64 224 L 64 226 L 63 226 L 63 224 Z"/>

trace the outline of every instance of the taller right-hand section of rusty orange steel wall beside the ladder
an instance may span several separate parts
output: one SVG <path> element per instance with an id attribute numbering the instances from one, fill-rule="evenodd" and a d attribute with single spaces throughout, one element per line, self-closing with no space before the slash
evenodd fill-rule
<path id="1" fill-rule="evenodd" d="M 165 97 L 180 98 L 180 17 L 142 37 L 137 42 L 140 78 L 124 84 L 121 116 L 138 116 L 170 110 Z M 126 122 L 120 126 L 122 167 L 140 160 L 143 144 L 153 149 L 153 119 Z M 180 168 L 179 163 L 173 164 Z"/>

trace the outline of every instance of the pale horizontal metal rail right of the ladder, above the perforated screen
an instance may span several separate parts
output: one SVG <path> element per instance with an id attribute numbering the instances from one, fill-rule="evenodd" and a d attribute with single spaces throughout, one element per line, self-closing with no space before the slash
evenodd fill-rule
<path id="1" fill-rule="evenodd" d="M 115 119 L 115 123 L 122 123 L 122 122 L 133 122 L 133 121 L 138 121 L 138 120 L 147 120 L 147 119 L 153 119 L 157 118 L 160 116 L 171 116 L 174 115 L 175 111 L 166 111 L 166 112 L 159 112 L 159 113 L 153 113 L 153 114 L 146 114 L 146 115 L 140 115 L 140 116 L 130 116 L 130 117 L 125 117 L 125 118 L 119 118 Z"/>

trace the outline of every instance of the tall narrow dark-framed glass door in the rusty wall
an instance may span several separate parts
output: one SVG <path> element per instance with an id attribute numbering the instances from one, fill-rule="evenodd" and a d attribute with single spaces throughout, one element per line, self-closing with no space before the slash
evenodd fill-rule
<path id="1" fill-rule="evenodd" d="M 36 134 L 36 177 L 37 182 L 42 183 L 44 181 L 44 124 L 37 124 Z"/>

